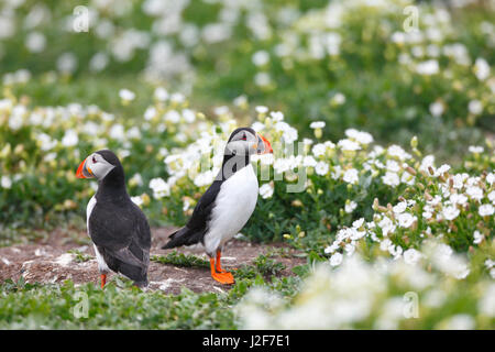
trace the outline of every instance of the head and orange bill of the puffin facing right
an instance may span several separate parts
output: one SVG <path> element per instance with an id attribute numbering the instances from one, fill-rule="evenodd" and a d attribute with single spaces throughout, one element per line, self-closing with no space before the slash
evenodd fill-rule
<path id="1" fill-rule="evenodd" d="M 252 155 L 273 153 L 270 142 L 251 128 L 234 130 L 227 142 L 226 154 Z"/>

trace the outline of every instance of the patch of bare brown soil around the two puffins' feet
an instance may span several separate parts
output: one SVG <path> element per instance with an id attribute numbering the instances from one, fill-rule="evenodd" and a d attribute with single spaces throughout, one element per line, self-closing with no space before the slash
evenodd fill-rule
<path id="1" fill-rule="evenodd" d="M 152 230 L 151 255 L 166 255 L 174 251 L 161 249 L 173 231 L 173 228 Z M 81 243 L 87 244 L 81 245 Z M 283 243 L 257 244 L 231 240 L 223 249 L 222 266 L 230 270 L 243 264 L 252 264 L 260 254 L 280 253 L 280 249 L 285 249 L 284 255 L 277 254 L 272 258 L 286 266 L 282 275 L 292 275 L 292 267 L 305 263 L 305 260 L 294 256 L 296 252 Z M 77 255 L 69 253 L 72 250 L 77 250 L 91 258 L 78 262 Z M 207 258 L 204 252 L 194 249 L 178 249 L 178 252 Z M 113 275 L 116 274 L 110 274 L 109 279 Z M 8 278 L 18 280 L 21 276 L 28 283 L 62 283 L 72 279 L 75 284 L 88 282 L 99 284 L 98 264 L 92 243 L 86 232 L 81 231 L 76 235 L 67 237 L 66 232 L 57 230 L 38 243 L 0 248 L 0 282 Z M 178 294 L 182 287 L 196 293 L 218 293 L 229 288 L 215 282 L 209 268 L 179 267 L 155 262 L 150 263 L 148 280 L 151 289 L 161 289 L 167 294 Z"/>

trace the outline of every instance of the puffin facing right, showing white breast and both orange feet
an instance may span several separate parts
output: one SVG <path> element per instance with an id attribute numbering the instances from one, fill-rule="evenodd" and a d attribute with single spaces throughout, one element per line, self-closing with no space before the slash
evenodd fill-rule
<path id="1" fill-rule="evenodd" d="M 263 135 L 251 128 L 234 130 L 213 183 L 198 200 L 186 226 L 170 234 L 162 249 L 200 244 L 210 257 L 211 277 L 221 284 L 233 284 L 233 275 L 221 267 L 222 248 L 241 231 L 256 207 L 260 188 L 250 157 L 267 153 L 273 150 Z"/>

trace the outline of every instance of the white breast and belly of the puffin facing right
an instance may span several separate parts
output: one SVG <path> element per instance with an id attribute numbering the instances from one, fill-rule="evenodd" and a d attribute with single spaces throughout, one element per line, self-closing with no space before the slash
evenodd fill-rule
<path id="1" fill-rule="evenodd" d="M 251 164 L 223 182 L 215 200 L 208 232 L 205 234 L 208 253 L 213 254 L 219 246 L 241 231 L 256 207 L 258 190 L 257 178 Z"/>

